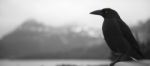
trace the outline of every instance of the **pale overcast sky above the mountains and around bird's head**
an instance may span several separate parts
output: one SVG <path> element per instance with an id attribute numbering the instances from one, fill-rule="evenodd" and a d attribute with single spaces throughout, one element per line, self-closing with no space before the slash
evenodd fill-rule
<path id="1" fill-rule="evenodd" d="M 105 7 L 118 11 L 129 25 L 150 18 L 150 0 L 0 0 L 0 37 L 29 18 L 53 26 L 99 26 L 102 17 L 89 12 Z"/>

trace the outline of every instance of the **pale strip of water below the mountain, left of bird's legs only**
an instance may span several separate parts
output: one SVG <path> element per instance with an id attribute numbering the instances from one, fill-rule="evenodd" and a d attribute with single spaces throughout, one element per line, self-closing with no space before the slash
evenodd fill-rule
<path id="1" fill-rule="evenodd" d="M 0 60 L 0 66 L 103 66 L 108 60 Z"/>

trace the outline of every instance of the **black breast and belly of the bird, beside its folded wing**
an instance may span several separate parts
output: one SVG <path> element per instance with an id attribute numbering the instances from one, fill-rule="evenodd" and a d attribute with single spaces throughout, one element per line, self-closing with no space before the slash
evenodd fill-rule
<path id="1" fill-rule="evenodd" d="M 104 20 L 103 35 L 108 46 L 116 52 L 126 53 L 130 43 L 124 38 L 119 24 L 115 19 Z"/>

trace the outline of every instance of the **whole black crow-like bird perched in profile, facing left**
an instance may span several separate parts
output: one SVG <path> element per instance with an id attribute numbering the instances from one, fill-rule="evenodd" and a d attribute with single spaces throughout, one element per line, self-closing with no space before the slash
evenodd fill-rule
<path id="1" fill-rule="evenodd" d="M 111 63 L 112 66 L 119 61 L 144 58 L 130 28 L 115 10 L 104 8 L 95 10 L 90 14 L 101 15 L 104 18 L 102 30 L 105 41 L 112 52 L 121 54 L 116 61 Z M 121 60 L 121 58 L 126 59 Z"/>

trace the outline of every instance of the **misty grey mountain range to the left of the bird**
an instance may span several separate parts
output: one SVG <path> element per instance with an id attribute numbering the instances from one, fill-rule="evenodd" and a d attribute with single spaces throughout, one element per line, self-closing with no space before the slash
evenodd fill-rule
<path id="1" fill-rule="evenodd" d="M 74 25 L 52 27 L 27 20 L 0 40 L 0 58 L 106 59 L 110 50 L 95 32 Z"/>

